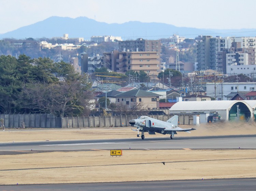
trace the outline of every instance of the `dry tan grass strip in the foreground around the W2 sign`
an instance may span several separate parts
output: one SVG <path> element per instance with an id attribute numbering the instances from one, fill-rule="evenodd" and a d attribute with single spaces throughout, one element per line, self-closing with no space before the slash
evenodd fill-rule
<path id="1" fill-rule="evenodd" d="M 165 164 L 163 164 L 165 162 Z M 124 150 L 1 155 L 0 184 L 255 177 L 256 150 Z"/>

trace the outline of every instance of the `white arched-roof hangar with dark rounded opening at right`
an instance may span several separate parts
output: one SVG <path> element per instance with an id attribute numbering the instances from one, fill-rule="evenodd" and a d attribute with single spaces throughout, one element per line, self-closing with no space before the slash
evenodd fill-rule
<path id="1" fill-rule="evenodd" d="M 253 119 L 256 115 L 256 100 L 181 101 L 175 103 L 169 114 L 210 114 L 218 112 L 222 120 Z"/>

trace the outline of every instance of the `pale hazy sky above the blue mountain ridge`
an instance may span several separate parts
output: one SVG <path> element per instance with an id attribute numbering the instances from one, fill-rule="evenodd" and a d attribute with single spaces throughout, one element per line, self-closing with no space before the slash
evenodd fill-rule
<path id="1" fill-rule="evenodd" d="M 256 0 L 0 0 L 0 33 L 51 16 L 106 23 L 162 22 L 200 29 L 256 28 Z"/>

